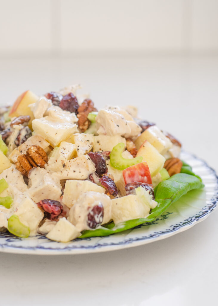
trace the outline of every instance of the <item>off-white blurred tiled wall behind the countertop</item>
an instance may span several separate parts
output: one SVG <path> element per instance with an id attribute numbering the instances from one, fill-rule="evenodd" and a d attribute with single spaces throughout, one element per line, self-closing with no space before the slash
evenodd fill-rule
<path id="1" fill-rule="evenodd" d="M 217 0 L 0 0 L 0 57 L 218 54 Z"/>

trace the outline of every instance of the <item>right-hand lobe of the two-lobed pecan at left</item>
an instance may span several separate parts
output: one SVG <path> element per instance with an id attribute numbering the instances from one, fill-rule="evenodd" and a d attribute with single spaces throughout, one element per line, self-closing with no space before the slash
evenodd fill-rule
<path id="1" fill-rule="evenodd" d="M 45 151 L 40 146 L 36 145 L 33 145 L 27 149 L 27 158 L 34 167 L 36 164 L 40 168 L 44 168 L 46 162 L 48 162 L 48 156 Z"/>

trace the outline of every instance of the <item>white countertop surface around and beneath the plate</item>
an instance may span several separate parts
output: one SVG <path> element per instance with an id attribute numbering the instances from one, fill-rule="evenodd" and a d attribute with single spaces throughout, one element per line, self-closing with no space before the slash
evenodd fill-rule
<path id="1" fill-rule="evenodd" d="M 84 84 L 97 106 L 134 104 L 218 171 L 218 58 L 0 59 L 1 104 Z M 215 305 L 218 211 L 162 241 L 75 256 L 0 253 L 1 305 Z"/>

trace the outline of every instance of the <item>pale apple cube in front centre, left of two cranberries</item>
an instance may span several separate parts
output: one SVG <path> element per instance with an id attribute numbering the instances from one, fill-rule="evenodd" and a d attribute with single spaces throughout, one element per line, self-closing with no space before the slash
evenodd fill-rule
<path id="1" fill-rule="evenodd" d="M 71 208 L 77 201 L 78 197 L 84 192 L 95 191 L 105 193 L 105 189 L 90 181 L 67 180 L 64 187 L 62 202 Z"/>

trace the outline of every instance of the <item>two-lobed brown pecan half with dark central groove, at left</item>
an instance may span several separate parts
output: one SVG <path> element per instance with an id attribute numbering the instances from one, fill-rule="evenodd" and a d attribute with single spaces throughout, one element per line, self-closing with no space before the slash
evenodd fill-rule
<path id="1" fill-rule="evenodd" d="M 33 167 L 43 168 L 47 161 L 48 156 L 45 151 L 41 147 L 33 145 L 27 149 L 27 154 L 18 156 L 15 166 L 21 174 L 28 175 Z"/>

